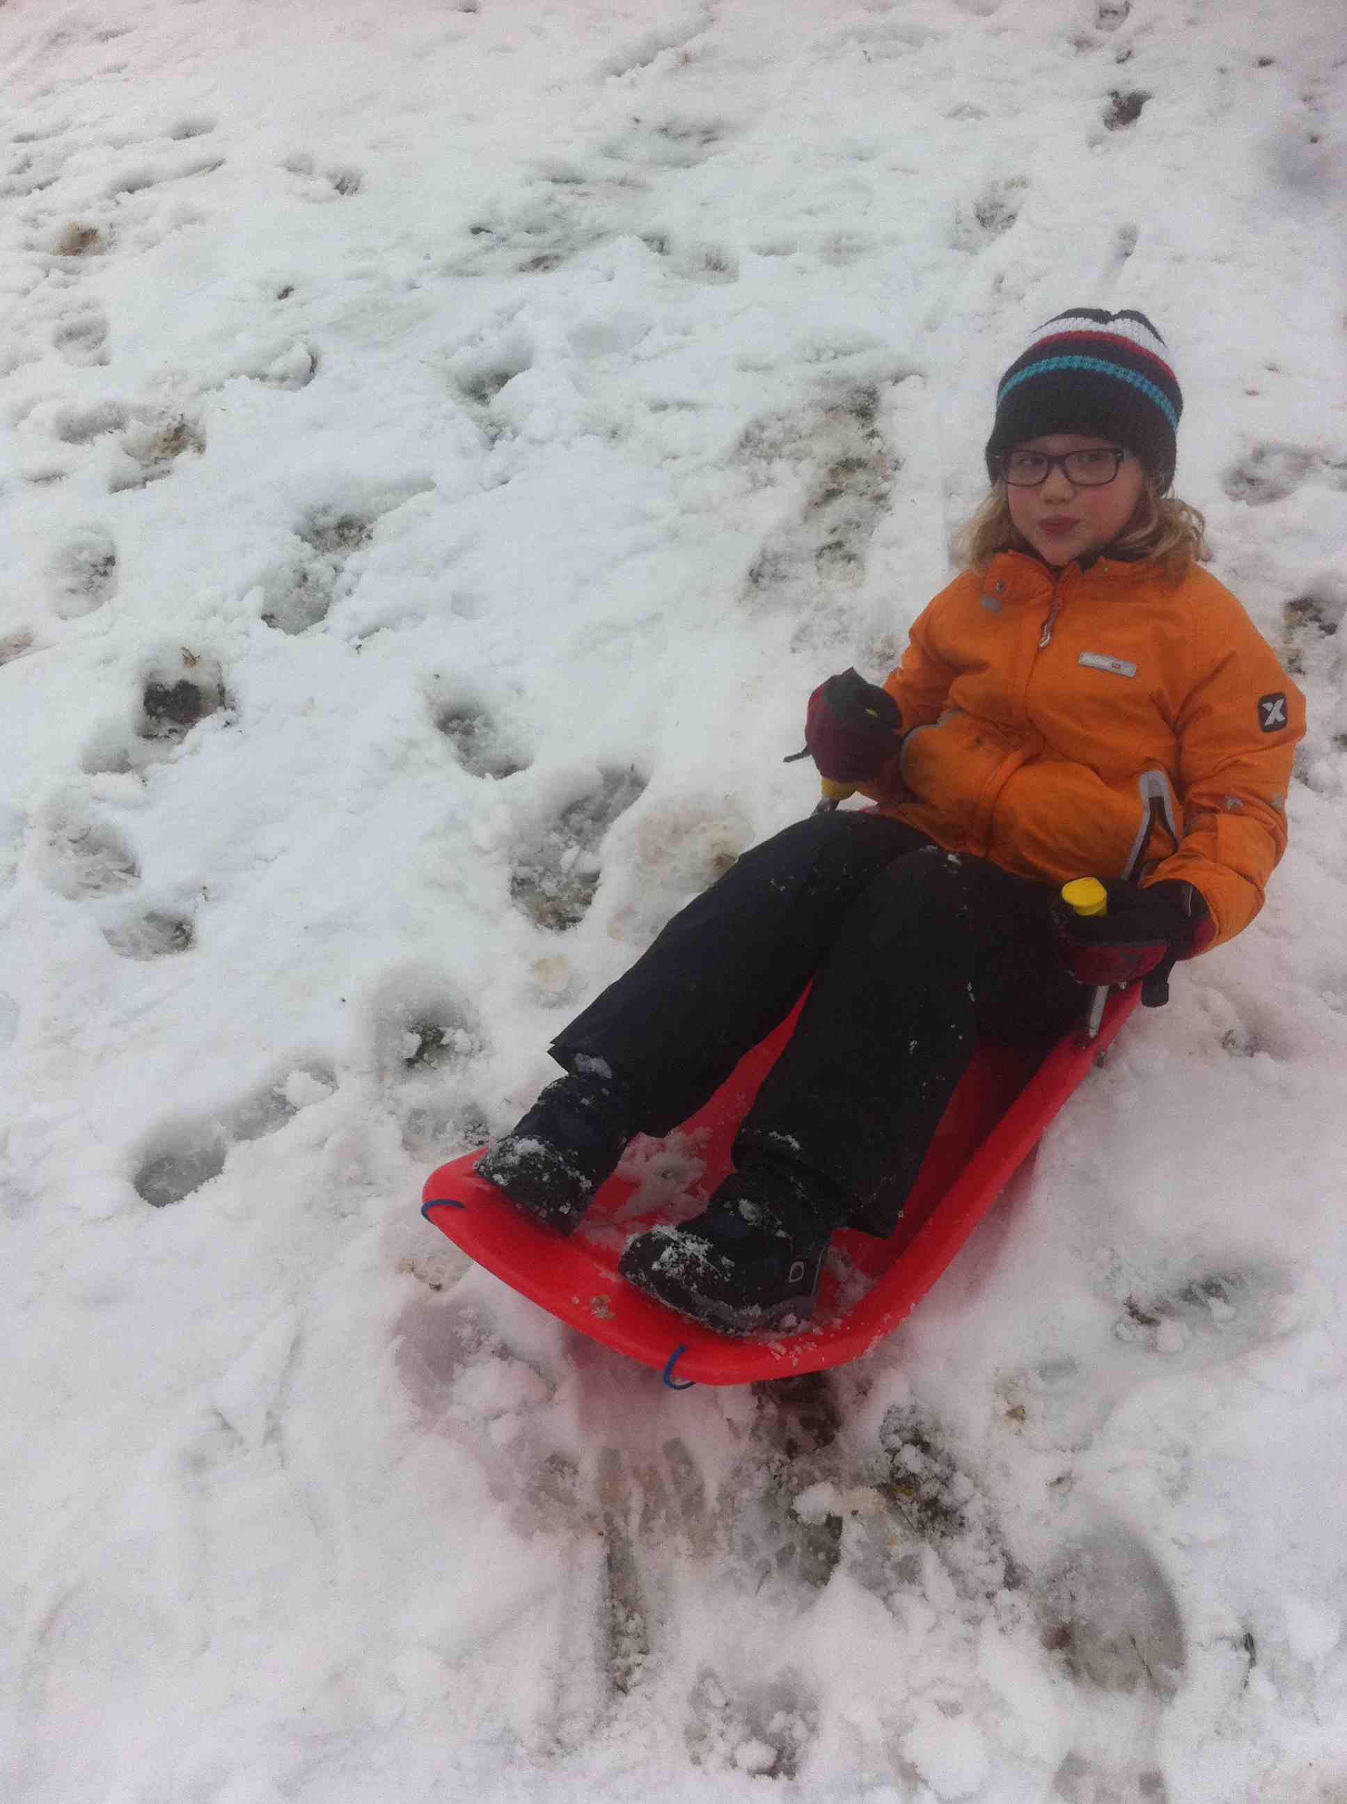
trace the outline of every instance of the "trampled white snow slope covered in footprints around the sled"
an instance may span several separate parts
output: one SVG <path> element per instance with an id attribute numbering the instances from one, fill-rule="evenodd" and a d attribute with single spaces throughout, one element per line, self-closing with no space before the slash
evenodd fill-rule
<path id="1" fill-rule="evenodd" d="M 5 1804 L 1347 1799 L 1336 0 L 0 11 Z M 1141 307 L 1311 734 L 911 1322 L 674 1394 L 426 1171 Z"/>

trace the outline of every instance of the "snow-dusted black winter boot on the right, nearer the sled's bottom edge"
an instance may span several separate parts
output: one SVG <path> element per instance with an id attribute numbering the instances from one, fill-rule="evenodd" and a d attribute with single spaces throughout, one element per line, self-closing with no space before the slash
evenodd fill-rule
<path id="1" fill-rule="evenodd" d="M 754 1160 L 700 1216 L 638 1234 L 619 1270 L 638 1290 L 728 1335 L 806 1322 L 828 1238 L 849 1201 L 799 1167 Z"/>

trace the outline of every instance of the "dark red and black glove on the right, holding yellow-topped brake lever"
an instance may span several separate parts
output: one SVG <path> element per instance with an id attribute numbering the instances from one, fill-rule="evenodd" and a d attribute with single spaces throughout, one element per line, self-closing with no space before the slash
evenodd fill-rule
<path id="1" fill-rule="evenodd" d="M 1077 915 L 1057 898 L 1053 925 L 1068 971 L 1078 983 L 1113 985 L 1149 978 L 1141 1001 L 1168 1001 L 1168 974 L 1179 958 L 1196 958 L 1215 938 L 1215 922 L 1192 884 L 1141 888 L 1125 877 L 1104 884 L 1105 915 Z"/>

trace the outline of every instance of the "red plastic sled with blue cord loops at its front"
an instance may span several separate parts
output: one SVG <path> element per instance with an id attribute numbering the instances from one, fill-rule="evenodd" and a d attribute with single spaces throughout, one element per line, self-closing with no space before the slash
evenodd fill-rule
<path id="1" fill-rule="evenodd" d="M 676 1207 L 633 1205 L 638 1183 L 613 1176 L 599 1191 L 582 1227 L 559 1239 L 516 1210 L 501 1192 L 472 1176 L 478 1153 L 440 1165 L 426 1180 L 422 1214 L 525 1297 L 662 1371 L 665 1384 L 748 1384 L 793 1378 L 869 1353 L 936 1283 L 1037 1146 L 1095 1057 L 1138 1001 L 1138 987 L 1109 998 L 1098 1037 L 1082 1046 L 1062 1039 L 1037 1066 L 1010 1048 L 985 1045 L 936 1131 L 921 1174 L 887 1239 L 842 1230 L 824 1268 L 815 1319 L 806 1328 L 734 1339 L 698 1328 L 635 1290 L 619 1275 L 628 1239 L 660 1220 L 685 1220 L 730 1165 L 739 1118 L 795 1026 L 784 1021 L 680 1129 L 680 1147 L 703 1164 Z M 696 1201 L 689 1201 L 696 1196 Z"/>

